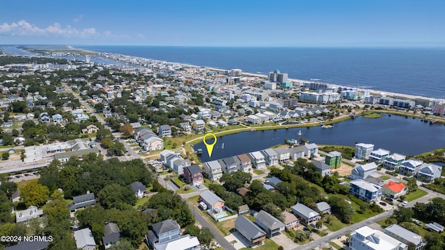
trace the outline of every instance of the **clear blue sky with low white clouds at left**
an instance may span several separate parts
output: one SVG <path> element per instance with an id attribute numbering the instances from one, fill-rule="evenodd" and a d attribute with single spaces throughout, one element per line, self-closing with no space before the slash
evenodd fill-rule
<path id="1" fill-rule="evenodd" d="M 444 0 L 0 0 L 0 44 L 444 47 L 444 13 Z"/>

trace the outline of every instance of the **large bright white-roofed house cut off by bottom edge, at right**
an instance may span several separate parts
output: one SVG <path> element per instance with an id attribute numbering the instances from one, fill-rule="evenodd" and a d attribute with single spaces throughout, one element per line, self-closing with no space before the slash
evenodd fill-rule
<path id="1" fill-rule="evenodd" d="M 362 226 L 350 234 L 350 250 L 407 250 L 406 244 L 392 238 L 391 236 L 370 228 Z"/>

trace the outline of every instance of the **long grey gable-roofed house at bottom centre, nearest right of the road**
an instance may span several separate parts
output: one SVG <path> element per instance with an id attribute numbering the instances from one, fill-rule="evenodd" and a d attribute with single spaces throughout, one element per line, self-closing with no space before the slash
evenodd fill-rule
<path id="1" fill-rule="evenodd" d="M 249 242 L 248 247 L 259 247 L 264 244 L 264 240 L 266 240 L 266 232 L 244 216 L 238 216 L 236 218 L 235 230 Z"/>

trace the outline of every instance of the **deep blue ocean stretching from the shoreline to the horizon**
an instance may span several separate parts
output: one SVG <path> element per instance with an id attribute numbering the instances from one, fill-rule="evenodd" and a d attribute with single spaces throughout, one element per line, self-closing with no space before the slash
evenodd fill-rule
<path id="1" fill-rule="evenodd" d="M 445 49 L 82 46 L 156 60 L 445 99 Z"/>

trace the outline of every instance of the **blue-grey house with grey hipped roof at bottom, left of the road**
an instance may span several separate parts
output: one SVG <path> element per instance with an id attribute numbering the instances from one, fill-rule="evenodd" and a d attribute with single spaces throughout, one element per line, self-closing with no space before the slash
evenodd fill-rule
<path id="1" fill-rule="evenodd" d="M 152 230 L 147 232 L 145 240 L 150 247 L 156 247 L 157 244 L 168 242 L 169 240 L 179 238 L 181 227 L 173 219 L 166 219 L 152 225 Z"/>

